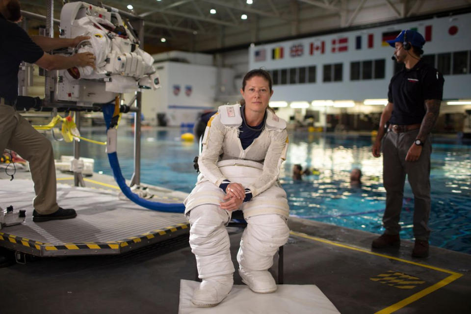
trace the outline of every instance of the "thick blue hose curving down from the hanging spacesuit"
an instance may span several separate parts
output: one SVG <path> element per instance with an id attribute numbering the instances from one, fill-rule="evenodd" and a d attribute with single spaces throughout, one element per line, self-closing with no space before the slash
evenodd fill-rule
<path id="1" fill-rule="evenodd" d="M 103 116 L 105 118 L 106 130 L 109 129 L 111 118 L 113 117 L 114 104 L 107 104 L 103 106 Z M 151 202 L 146 199 L 139 197 L 139 195 L 133 193 L 131 188 L 126 184 L 126 180 L 121 173 L 121 167 L 119 166 L 118 156 L 116 152 L 108 154 L 109 165 L 113 170 L 113 176 L 116 183 L 118 183 L 119 188 L 129 198 L 132 202 L 137 205 L 140 205 L 147 209 L 152 209 L 156 211 L 164 212 L 179 212 L 183 213 L 185 211 L 185 206 L 183 204 L 168 204 L 168 203 L 159 203 Z"/>

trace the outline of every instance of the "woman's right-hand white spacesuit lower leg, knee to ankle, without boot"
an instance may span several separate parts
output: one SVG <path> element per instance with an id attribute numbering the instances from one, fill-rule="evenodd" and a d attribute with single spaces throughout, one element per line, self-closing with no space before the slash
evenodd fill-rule
<path id="1" fill-rule="evenodd" d="M 246 221 L 237 262 L 246 270 L 267 270 L 273 265 L 278 248 L 288 241 L 287 219 L 279 214 L 262 214 Z"/>

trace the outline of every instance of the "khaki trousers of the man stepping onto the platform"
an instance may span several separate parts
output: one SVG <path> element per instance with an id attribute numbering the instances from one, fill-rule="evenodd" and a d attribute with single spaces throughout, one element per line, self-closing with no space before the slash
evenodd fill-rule
<path id="1" fill-rule="evenodd" d="M 7 148 L 29 161 L 36 197 L 33 207 L 40 214 L 55 212 L 56 180 L 51 142 L 19 115 L 15 108 L 0 105 L 0 152 Z"/>

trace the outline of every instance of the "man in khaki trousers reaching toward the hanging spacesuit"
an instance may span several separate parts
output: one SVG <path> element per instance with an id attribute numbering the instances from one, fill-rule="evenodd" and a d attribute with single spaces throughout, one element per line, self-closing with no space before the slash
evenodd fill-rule
<path id="1" fill-rule="evenodd" d="M 71 57 L 51 55 L 44 51 L 75 47 L 88 39 L 34 36 L 32 39 L 16 23 L 21 18 L 18 0 L 0 0 L 0 152 L 5 148 L 18 152 L 29 161 L 36 197 L 33 221 L 42 222 L 77 216 L 74 209 L 62 209 L 56 201 L 54 156 L 51 142 L 34 130 L 16 110 L 18 71 L 22 61 L 35 63 L 47 70 L 95 65 L 93 53 Z"/>

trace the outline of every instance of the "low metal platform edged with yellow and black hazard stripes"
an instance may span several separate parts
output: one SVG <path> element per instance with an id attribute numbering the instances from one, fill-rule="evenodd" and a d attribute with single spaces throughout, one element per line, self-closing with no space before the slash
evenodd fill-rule
<path id="1" fill-rule="evenodd" d="M 35 256 L 120 254 L 154 244 L 169 237 L 188 233 L 189 224 L 183 213 L 165 213 L 144 209 L 129 200 L 120 200 L 116 187 L 88 180 L 90 185 L 76 187 L 58 178 L 59 206 L 74 208 L 77 217 L 67 220 L 34 223 L 32 221 L 31 180 L 1 180 L 1 206 L 26 209 L 26 221 L 0 230 L 0 246 Z M 168 195 L 171 195 L 169 197 Z M 183 202 L 184 193 L 161 189 L 152 200 L 166 203 Z"/>

